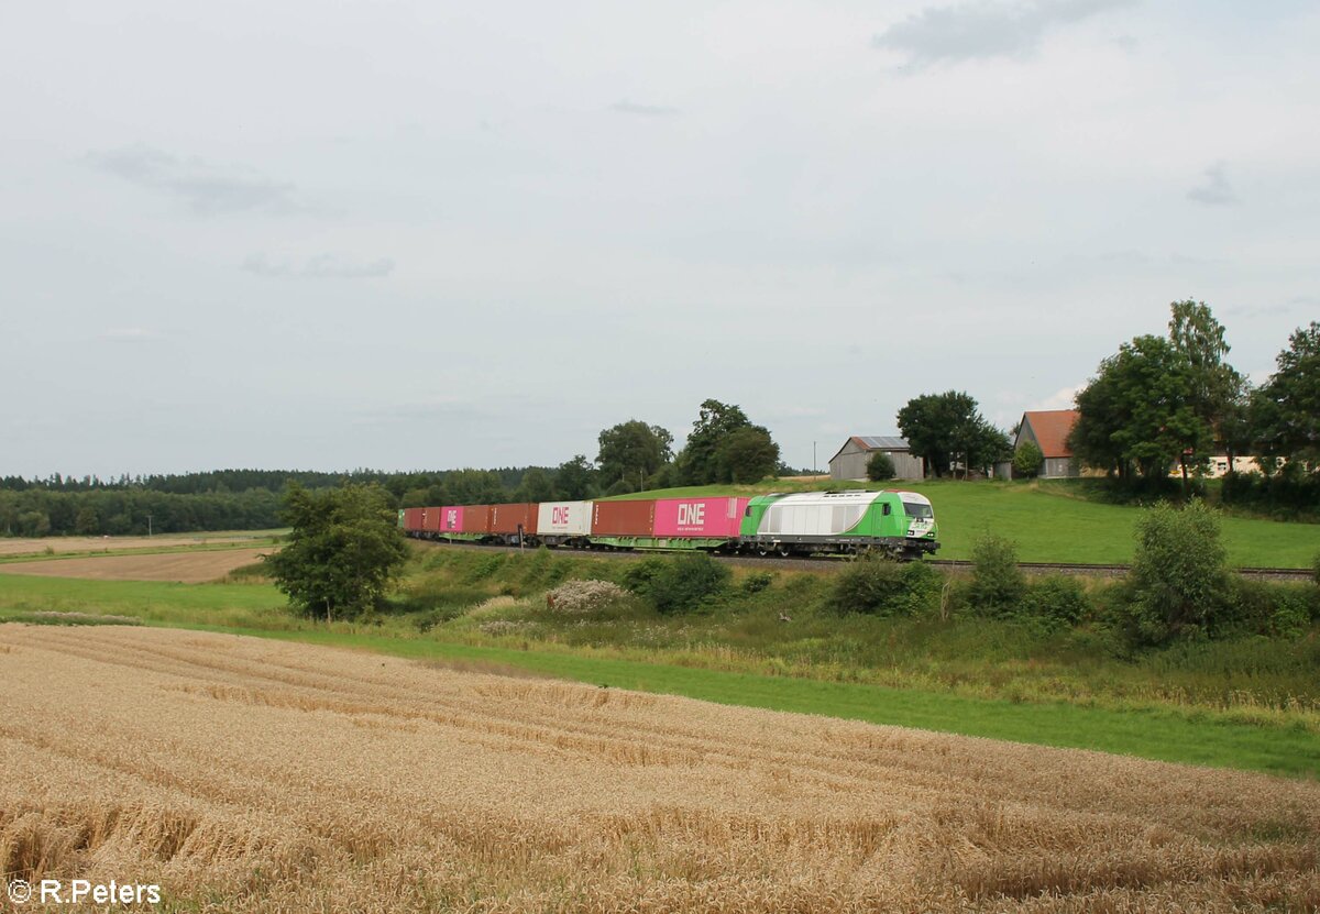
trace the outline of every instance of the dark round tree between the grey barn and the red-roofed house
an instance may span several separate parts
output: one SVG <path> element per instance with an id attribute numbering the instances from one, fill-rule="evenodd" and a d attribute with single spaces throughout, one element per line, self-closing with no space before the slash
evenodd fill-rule
<path id="1" fill-rule="evenodd" d="M 946 474 L 953 461 L 961 462 L 966 474 L 1011 450 L 1008 436 L 986 421 L 975 399 L 962 391 L 908 400 L 899 409 L 898 425 L 912 453 L 924 457 L 928 470 L 937 477 Z"/>

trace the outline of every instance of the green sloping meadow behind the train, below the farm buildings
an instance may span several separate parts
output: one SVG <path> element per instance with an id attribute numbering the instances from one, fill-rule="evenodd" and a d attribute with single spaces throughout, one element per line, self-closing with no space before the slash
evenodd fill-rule
<path id="1" fill-rule="evenodd" d="M 1022 561 L 1123 564 L 1133 557 L 1133 526 L 1140 509 L 1101 505 L 1077 495 L 1077 487 L 1034 482 L 894 482 L 887 486 L 834 483 L 840 489 L 907 489 L 931 499 L 940 523 L 940 559 L 968 559 L 985 531 L 1018 544 Z M 659 489 L 624 498 L 688 498 L 807 491 L 820 483 L 784 479 L 755 486 Z M 1320 524 L 1254 518 L 1224 518 L 1229 563 L 1246 568 L 1309 568 L 1320 553 Z"/>

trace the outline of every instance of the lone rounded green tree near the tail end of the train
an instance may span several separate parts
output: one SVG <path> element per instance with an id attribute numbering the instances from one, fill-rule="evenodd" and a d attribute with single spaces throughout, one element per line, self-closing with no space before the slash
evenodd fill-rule
<path id="1" fill-rule="evenodd" d="M 309 491 L 293 482 L 281 518 L 293 528 L 288 543 L 264 559 L 275 585 L 313 618 L 374 609 L 408 557 L 397 514 L 375 483 Z"/>

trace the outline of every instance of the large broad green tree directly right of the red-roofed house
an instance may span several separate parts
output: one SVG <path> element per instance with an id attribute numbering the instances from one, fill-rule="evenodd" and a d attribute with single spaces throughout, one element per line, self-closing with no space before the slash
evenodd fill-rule
<path id="1" fill-rule="evenodd" d="M 1068 442 L 1092 466 L 1127 478 L 1135 466 L 1163 477 L 1175 461 L 1204 453 L 1212 431 L 1192 403 L 1188 359 L 1160 337 L 1137 337 L 1100 363 L 1077 394 L 1078 417 Z"/>

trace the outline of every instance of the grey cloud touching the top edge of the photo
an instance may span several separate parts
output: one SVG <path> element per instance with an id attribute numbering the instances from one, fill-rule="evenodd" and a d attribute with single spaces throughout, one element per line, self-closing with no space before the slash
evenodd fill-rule
<path id="1" fill-rule="evenodd" d="M 902 52 L 919 67 L 991 57 L 1020 59 L 1036 52 L 1045 32 L 1130 3 L 1034 0 L 928 7 L 875 36 L 871 46 Z"/>

